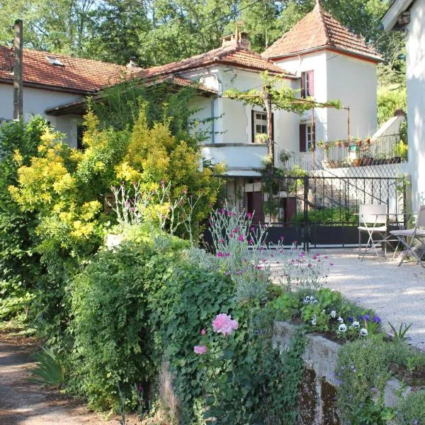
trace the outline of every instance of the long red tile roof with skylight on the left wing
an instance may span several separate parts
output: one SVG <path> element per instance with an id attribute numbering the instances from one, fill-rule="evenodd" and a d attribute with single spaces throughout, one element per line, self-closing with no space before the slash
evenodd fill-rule
<path id="1" fill-rule="evenodd" d="M 51 64 L 47 57 L 56 58 L 64 66 Z M 12 69 L 13 50 L 0 46 L 0 81 L 13 81 Z M 23 50 L 24 86 L 47 86 L 61 91 L 89 94 L 120 81 L 126 71 L 123 66 L 106 62 Z"/>

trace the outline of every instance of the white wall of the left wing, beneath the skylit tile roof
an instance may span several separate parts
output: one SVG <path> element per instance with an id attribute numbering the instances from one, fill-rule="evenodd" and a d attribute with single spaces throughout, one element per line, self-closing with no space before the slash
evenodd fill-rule
<path id="1" fill-rule="evenodd" d="M 67 142 L 72 147 L 77 147 L 77 123 L 81 118 L 73 115 L 55 117 L 46 115 L 45 110 L 81 98 L 78 94 L 69 94 L 62 91 L 23 88 L 23 117 L 29 120 L 31 115 L 41 115 L 60 132 L 67 135 Z M 13 118 L 13 86 L 0 84 L 0 118 L 11 120 Z"/>

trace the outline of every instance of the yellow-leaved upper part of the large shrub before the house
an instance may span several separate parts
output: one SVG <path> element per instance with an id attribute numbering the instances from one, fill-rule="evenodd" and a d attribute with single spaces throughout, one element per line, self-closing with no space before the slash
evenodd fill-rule
<path id="1" fill-rule="evenodd" d="M 120 131 L 101 128 L 89 111 L 82 151 L 65 144 L 59 132 L 47 129 L 29 165 L 21 164 L 21 154 L 15 152 L 21 166 L 18 184 L 9 191 L 22 210 L 39 213 L 36 233 L 42 253 L 65 249 L 78 257 L 96 249 L 107 223 L 115 223 L 113 215 L 103 212 L 104 196 L 121 182 L 130 190 L 135 182 L 145 193 L 157 190 L 161 182 L 171 183 L 176 199 L 186 192 L 202 195 L 193 221 L 207 217 L 219 181 L 212 170 L 201 169 L 199 150 L 177 141 L 166 120 L 149 127 L 146 108 L 142 104 L 132 129 Z M 155 205 L 149 208 L 152 219 L 167 212 L 167 204 L 161 211 Z"/>

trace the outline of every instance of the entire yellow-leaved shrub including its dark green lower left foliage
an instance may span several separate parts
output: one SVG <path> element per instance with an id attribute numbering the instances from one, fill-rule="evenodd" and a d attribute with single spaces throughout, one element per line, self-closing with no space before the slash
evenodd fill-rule
<path id="1" fill-rule="evenodd" d="M 72 277 L 101 246 L 111 225 L 118 224 L 104 210 L 111 186 L 131 189 L 137 184 L 149 192 L 161 181 L 171 182 L 173 197 L 188 193 L 200 198 L 191 212 L 194 227 L 215 203 L 220 181 L 214 169 L 200 169 L 196 143 L 174 136 L 169 119 L 149 123 L 148 109 L 141 103 L 134 124 L 121 130 L 101 126 L 90 111 L 84 120 L 84 150 L 69 147 L 63 135 L 45 128 L 29 156 L 21 146 L 11 153 L 18 168 L 6 191 L 8 186 L 17 215 L 35 217 L 29 244 L 47 273 L 37 280 L 31 312 L 50 344 L 64 344 Z"/>

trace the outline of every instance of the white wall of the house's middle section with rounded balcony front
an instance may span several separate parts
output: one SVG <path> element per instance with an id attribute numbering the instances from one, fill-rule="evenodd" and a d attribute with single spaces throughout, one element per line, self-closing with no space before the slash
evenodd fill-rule
<path id="1" fill-rule="evenodd" d="M 211 67 L 210 69 L 186 73 L 183 76 L 202 81 L 205 86 L 221 93 L 225 93 L 229 89 L 237 89 L 239 91 L 261 89 L 263 85 L 263 80 L 258 72 L 249 72 L 232 67 Z M 300 86 L 299 79 L 287 79 L 283 84 L 287 84 L 292 89 L 298 89 Z M 198 120 L 210 118 L 212 116 L 211 102 L 213 99 L 213 96 L 210 98 L 202 96 L 193 98 L 191 107 L 199 109 L 194 118 Z M 256 144 L 252 143 L 251 111 L 263 112 L 263 108 L 261 106 L 246 105 L 242 101 L 233 101 L 220 96 L 216 96 L 213 103 L 213 116 L 216 117 L 214 120 L 215 135 L 214 137 L 210 135 L 208 140 L 203 142 L 204 145 L 208 145 L 208 147 L 203 148 L 204 157 L 213 159 L 216 162 L 227 162 L 229 169 L 260 168 L 267 154 L 267 149 L 264 145 L 257 147 L 255 146 Z M 273 111 L 276 151 L 279 150 L 279 147 L 285 147 L 285 149 L 297 152 L 299 149 L 299 122 L 300 117 L 295 113 Z M 212 123 L 200 125 L 198 129 L 210 133 L 212 131 Z M 215 143 L 217 147 L 211 147 L 210 144 L 212 143 Z M 235 144 L 247 146 L 238 150 Z M 222 151 L 219 149 L 222 149 Z"/>

